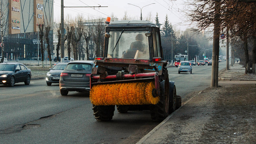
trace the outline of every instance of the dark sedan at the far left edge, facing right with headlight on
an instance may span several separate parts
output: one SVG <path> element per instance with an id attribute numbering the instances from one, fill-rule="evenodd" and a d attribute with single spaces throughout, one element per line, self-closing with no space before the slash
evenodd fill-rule
<path id="1" fill-rule="evenodd" d="M 31 70 L 22 63 L 1 63 L 0 84 L 14 86 L 17 82 L 30 84 Z"/>

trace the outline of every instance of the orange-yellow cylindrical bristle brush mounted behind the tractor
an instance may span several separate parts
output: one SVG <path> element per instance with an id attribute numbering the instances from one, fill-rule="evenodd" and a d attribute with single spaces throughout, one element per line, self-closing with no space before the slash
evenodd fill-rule
<path id="1" fill-rule="evenodd" d="M 94 105 L 147 105 L 157 104 L 160 97 L 153 97 L 154 82 L 131 82 L 94 85 L 90 101 Z"/>

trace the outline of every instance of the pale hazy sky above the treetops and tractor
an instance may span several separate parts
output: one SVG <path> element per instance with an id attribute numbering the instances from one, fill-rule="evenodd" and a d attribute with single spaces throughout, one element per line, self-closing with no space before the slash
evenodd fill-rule
<path id="1" fill-rule="evenodd" d="M 61 0 L 54 0 L 54 18 L 60 20 L 60 3 Z M 116 18 L 121 20 L 124 16 L 124 12 L 127 11 L 129 17 L 140 19 L 140 8 L 133 6 L 137 5 L 143 7 L 142 17 L 145 18 L 151 12 L 153 19 L 158 13 L 160 23 L 164 23 L 165 16 L 167 14 L 169 22 L 178 29 L 185 30 L 188 26 L 185 26 L 185 14 L 182 12 L 184 7 L 183 0 L 64 0 L 64 6 L 108 6 L 99 8 L 64 8 L 64 17 L 69 14 L 76 16 L 82 14 L 87 19 L 88 16 L 94 18 L 105 18 L 111 16 L 113 13 Z M 155 4 L 151 4 L 155 3 Z M 149 5 L 151 4 L 151 5 Z M 149 6 L 146 6 L 149 5 Z M 144 19 L 143 19 L 144 20 Z M 155 20 L 153 20 L 155 22 Z"/>

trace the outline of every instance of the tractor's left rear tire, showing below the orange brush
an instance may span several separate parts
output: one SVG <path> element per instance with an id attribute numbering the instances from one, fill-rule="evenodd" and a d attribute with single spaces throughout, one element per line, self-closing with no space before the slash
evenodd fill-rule
<path id="1" fill-rule="evenodd" d="M 95 106 L 92 105 L 94 117 L 97 121 L 110 121 L 114 116 L 115 106 Z"/>

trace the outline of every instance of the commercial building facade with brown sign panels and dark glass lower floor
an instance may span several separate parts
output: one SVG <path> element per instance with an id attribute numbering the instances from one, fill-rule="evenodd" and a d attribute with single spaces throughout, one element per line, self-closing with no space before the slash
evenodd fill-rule
<path id="1" fill-rule="evenodd" d="M 7 60 L 35 60 L 39 42 L 39 57 L 41 57 L 38 25 L 53 27 L 53 0 L 0 0 L 0 2 L 0 29 L 3 33 L 0 34 L 4 39 L 4 56 Z M 53 52 L 53 28 L 49 38 Z M 1 39 L 0 41 L 2 42 Z M 47 57 L 47 43 L 44 38 L 43 46 Z M 2 51 L 1 47 L 0 50 Z"/>

